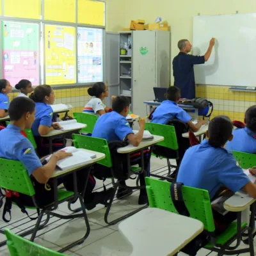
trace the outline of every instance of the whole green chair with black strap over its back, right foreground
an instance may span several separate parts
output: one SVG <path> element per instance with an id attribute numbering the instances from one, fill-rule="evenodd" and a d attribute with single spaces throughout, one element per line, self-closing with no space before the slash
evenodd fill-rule
<path id="1" fill-rule="evenodd" d="M 146 177 L 147 194 L 150 207 L 156 207 L 166 211 L 179 214 L 173 205 L 170 196 L 170 182 L 165 180 L 156 180 Z M 232 254 L 239 254 L 236 248 L 241 243 L 241 237 L 245 230 L 248 230 L 247 223 L 241 223 L 241 212 L 237 212 L 237 221 L 232 222 L 227 230 L 214 236 L 214 220 L 212 216 L 211 200 L 207 190 L 182 186 L 182 196 L 184 203 L 190 214 L 190 218 L 202 221 L 204 223 L 204 232 L 211 237 L 205 248 L 218 252 L 218 255 L 224 255 L 225 250 L 234 250 Z M 239 225 L 240 223 L 240 225 Z M 172 230 L 171 230 L 172 231 Z M 231 243 L 237 240 L 236 246 L 230 246 Z M 253 253 L 253 238 L 250 239 L 250 248 L 244 249 L 246 252 Z M 227 253 L 230 255 L 230 253 Z"/>

